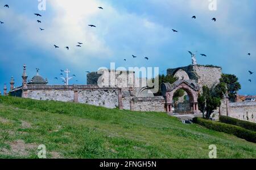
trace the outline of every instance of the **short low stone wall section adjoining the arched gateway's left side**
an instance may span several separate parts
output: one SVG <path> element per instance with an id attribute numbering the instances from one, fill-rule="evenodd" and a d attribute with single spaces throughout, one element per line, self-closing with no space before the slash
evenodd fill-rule
<path id="1" fill-rule="evenodd" d="M 159 97 L 136 97 L 133 99 L 132 110 L 134 111 L 159 111 L 166 112 L 165 100 Z"/>

